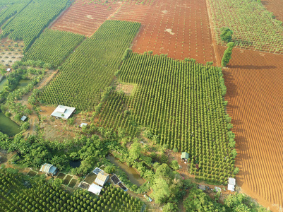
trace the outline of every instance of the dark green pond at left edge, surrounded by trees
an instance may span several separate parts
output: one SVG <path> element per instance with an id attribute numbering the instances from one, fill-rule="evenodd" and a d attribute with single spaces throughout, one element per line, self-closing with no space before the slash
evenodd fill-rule
<path id="1" fill-rule="evenodd" d="M 15 136 L 20 132 L 20 126 L 0 112 L 0 131 L 8 136 Z"/>

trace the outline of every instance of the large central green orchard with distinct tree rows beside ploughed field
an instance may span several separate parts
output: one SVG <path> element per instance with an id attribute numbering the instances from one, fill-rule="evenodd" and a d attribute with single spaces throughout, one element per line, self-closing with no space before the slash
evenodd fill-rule
<path id="1" fill-rule="evenodd" d="M 192 174 L 227 181 L 234 171 L 234 139 L 224 113 L 219 68 L 131 53 L 121 66 L 120 80 L 138 88 L 133 97 L 109 96 L 98 117 L 102 126 L 131 134 L 134 125 L 143 125 L 152 141 L 188 152 Z M 196 164 L 202 168 L 197 170 Z"/>

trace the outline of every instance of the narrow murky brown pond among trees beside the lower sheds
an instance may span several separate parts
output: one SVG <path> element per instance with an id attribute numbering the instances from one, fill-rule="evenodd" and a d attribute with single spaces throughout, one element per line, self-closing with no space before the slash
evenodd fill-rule
<path id="1" fill-rule="evenodd" d="M 140 187 L 145 182 L 145 180 L 138 175 L 138 172 L 136 172 L 133 167 L 128 167 L 128 165 L 119 162 L 119 160 L 117 160 L 113 155 L 108 155 L 106 158 L 110 160 L 111 163 L 119 166 L 121 170 L 126 172 L 128 179 L 130 179 L 133 184 L 136 184 L 138 187 Z"/>

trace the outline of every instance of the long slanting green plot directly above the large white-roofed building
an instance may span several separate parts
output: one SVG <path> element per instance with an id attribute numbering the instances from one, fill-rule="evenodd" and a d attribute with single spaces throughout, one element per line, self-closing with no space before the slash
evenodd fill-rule
<path id="1" fill-rule="evenodd" d="M 105 21 L 66 59 L 58 76 L 44 88 L 40 99 L 53 105 L 94 110 L 139 28 L 140 23 Z"/>

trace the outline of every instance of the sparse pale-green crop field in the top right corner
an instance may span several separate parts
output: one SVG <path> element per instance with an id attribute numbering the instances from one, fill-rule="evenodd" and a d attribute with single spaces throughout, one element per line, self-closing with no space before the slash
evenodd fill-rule
<path id="1" fill-rule="evenodd" d="M 262 4 L 254 0 L 207 0 L 212 13 L 212 25 L 218 45 L 220 28 L 233 31 L 233 42 L 237 47 L 263 52 L 283 53 L 282 21 L 272 17 Z M 243 16 L 248 14 L 248 16 Z"/>

